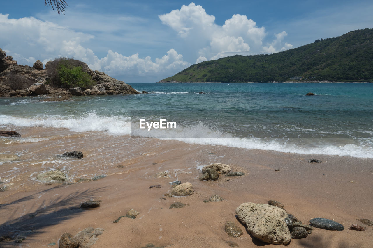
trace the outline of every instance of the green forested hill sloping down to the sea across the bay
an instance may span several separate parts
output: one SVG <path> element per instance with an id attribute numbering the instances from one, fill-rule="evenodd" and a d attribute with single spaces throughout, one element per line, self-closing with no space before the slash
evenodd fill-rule
<path id="1" fill-rule="evenodd" d="M 373 82 L 373 29 L 351 31 L 275 54 L 205 61 L 160 82 L 285 81 Z"/>

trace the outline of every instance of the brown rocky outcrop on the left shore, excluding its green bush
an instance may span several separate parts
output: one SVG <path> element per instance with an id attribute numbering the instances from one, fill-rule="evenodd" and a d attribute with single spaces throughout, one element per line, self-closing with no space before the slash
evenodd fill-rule
<path id="1" fill-rule="evenodd" d="M 19 65 L 17 61 L 13 61 L 12 56 L 7 56 L 0 48 L 0 96 L 140 94 L 125 82 L 116 80 L 102 71 L 93 71 L 87 64 L 82 64 L 82 70 L 97 84 L 84 92 L 79 87 L 58 88 L 52 86 L 53 84 L 49 85 L 49 62 L 45 65 L 46 69 L 43 69 L 41 61 L 36 61 L 33 67 Z"/>

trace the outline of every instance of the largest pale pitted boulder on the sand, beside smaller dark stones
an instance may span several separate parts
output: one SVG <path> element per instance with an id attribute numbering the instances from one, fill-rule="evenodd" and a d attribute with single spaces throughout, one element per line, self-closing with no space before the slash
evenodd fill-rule
<path id="1" fill-rule="evenodd" d="M 268 204 L 242 203 L 236 214 L 253 237 L 270 244 L 290 242 L 291 234 L 284 220 L 288 214 L 284 210 Z"/>

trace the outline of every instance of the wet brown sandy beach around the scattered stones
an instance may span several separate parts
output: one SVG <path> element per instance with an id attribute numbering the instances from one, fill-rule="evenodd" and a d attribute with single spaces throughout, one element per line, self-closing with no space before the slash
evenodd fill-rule
<path id="1" fill-rule="evenodd" d="M 287 247 L 370 247 L 373 227 L 356 219 L 373 220 L 373 159 L 332 155 L 303 155 L 224 146 L 186 144 L 174 140 L 109 136 L 100 132 L 74 133 L 66 129 L 12 127 L 23 141 L 4 142 L 1 153 L 17 153 L 20 161 L 0 165 L 0 181 L 9 190 L 0 192 L 0 236 L 26 236 L 21 244 L 0 242 L 1 247 L 44 247 L 69 232 L 75 235 L 87 227 L 104 228 L 92 247 L 275 247 L 253 239 L 235 217 L 244 202 L 285 205 L 304 224 L 315 217 L 335 220 L 343 231 L 315 228 L 305 239 L 292 239 Z M 26 139 L 44 139 L 26 142 Z M 8 139 L 9 141 L 9 139 Z M 6 144 L 7 143 L 7 144 Z M 60 158 L 63 152 L 79 150 L 83 159 Z M 308 159 L 322 163 L 307 163 Z M 197 166 L 226 163 L 242 177 L 200 181 Z M 117 166 L 122 166 L 118 168 Z M 45 185 L 36 175 L 50 168 L 61 169 L 68 182 L 95 175 L 97 181 Z M 279 171 L 275 171 L 279 169 Z M 154 178 L 168 171 L 170 178 Z M 164 197 L 169 182 L 191 182 L 194 194 Z M 229 180 L 229 181 L 228 181 Z M 149 188 L 161 185 L 161 188 Z M 220 202 L 204 203 L 211 195 Z M 165 198 L 165 200 L 163 199 Z M 100 200 L 101 206 L 81 210 L 87 200 Z M 175 202 L 189 204 L 169 209 Z M 129 209 L 140 214 L 123 217 Z M 224 231 L 233 221 L 244 235 L 232 238 Z M 364 232 L 348 230 L 351 224 L 367 227 Z M 58 244 L 57 244 L 58 245 Z"/>

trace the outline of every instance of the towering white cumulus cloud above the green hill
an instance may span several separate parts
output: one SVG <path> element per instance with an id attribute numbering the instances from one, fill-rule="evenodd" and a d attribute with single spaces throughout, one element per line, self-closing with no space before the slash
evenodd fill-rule
<path id="1" fill-rule="evenodd" d="M 291 44 L 282 44 L 287 35 L 285 31 L 275 34 L 276 38 L 271 44 L 263 45 L 267 35 L 265 28 L 258 27 L 247 16 L 235 14 L 220 26 L 215 23 L 213 15 L 208 15 L 202 6 L 194 3 L 159 15 L 159 19 L 178 32 L 187 44 L 200 45 L 196 62 L 205 58 L 214 60 L 231 53 L 275 53 L 292 47 Z"/>

